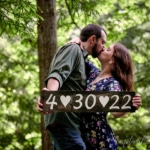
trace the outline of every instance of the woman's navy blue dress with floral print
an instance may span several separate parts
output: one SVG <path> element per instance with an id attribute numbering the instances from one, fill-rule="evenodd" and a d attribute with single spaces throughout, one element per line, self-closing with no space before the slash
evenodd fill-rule
<path id="1" fill-rule="evenodd" d="M 121 91 L 120 84 L 113 77 L 105 78 L 90 84 L 100 73 L 91 62 L 90 77 L 86 91 Z M 87 150 L 117 150 L 117 141 L 107 122 L 107 112 L 83 113 L 84 139 Z"/>

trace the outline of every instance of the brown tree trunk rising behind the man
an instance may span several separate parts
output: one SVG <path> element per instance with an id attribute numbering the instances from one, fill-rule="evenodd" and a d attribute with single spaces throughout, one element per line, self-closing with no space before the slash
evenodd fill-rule
<path id="1" fill-rule="evenodd" d="M 42 17 L 38 23 L 38 58 L 40 69 L 40 90 L 45 87 L 44 80 L 57 48 L 56 3 L 55 0 L 37 0 L 37 13 Z M 41 115 L 42 150 L 51 150 L 52 141 L 45 130 Z"/>

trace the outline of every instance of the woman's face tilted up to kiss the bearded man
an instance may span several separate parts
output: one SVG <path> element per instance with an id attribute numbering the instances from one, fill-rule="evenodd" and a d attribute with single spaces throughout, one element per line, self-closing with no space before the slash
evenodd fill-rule
<path id="1" fill-rule="evenodd" d="M 113 53 L 114 45 L 111 45 L 108 48 L 104 48 L 98 56 L 98 59 L 101 63 L 110 63 L 113 62 Z"/>

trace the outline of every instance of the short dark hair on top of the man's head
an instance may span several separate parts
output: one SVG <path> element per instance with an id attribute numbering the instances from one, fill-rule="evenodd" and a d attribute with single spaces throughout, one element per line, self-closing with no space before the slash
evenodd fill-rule
<path id="1" fill-rule="evenodd" d="M 104 28 L 100 27 L 99 25 L 96 24 L 88 24 L 87 26 L 85 26 L 80 33 L 80 40 L 82 42 L 87 41 L 87 39 L 92 36 L 95 35 L 96 39 L 98 40 L 99 38 L 101 38 L 101 32 L 105 31 Z M 107 34 L 107 33 L 106 33 Z"/>

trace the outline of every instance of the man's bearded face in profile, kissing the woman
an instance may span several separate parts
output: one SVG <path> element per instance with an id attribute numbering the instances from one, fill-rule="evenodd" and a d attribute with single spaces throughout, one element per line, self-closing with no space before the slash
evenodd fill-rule
<path id="1" fill-rule="evenodd" d="M 103 50 L 104 45 L 106 43 L 106 38 L 107 37 L 106 37 L 106 34 L 103 30 L 102 30 L 101 35 L 102 35 L 101 38 L 99 38 L 97 40 L 97 42 L 95 43 L 95 45 L 92 48 L 92 56 L 94 58 L 96 58 L 100 54 L 100 52 Z"/>

